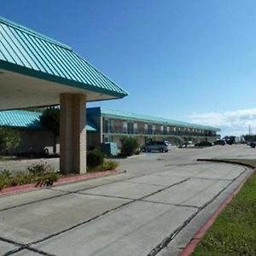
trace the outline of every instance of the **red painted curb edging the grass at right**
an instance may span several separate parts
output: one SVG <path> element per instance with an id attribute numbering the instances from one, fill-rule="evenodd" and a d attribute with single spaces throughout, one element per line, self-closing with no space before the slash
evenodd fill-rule
<path id="1" fill-rule="evenodd" d="M 224 200 L 224 202 L 218 207 L 218 209 L 213 212 L 212 216 L 208 218 L 207 222 L 201 226 L 200 230 L 198 230 L 195 236 L 189 241 L 189 243 L 184 247 L 183 252 L 180 256 L 189 256 L 194 252 L 197 243 L 201 240 L 201 238 L 207 233 L 207 230 L 210 229 L 215 219 L 218 217 L 219 213 L 224 210 L 224 208 L 230 204 L 230 201 L 234 198 L 234 196 L 239 192 L 244 183 L 246 183 L 247 178 L 250 177 L 251 174 L 248 174 L 247 177 L 234 189 L 231 194 Z"/>

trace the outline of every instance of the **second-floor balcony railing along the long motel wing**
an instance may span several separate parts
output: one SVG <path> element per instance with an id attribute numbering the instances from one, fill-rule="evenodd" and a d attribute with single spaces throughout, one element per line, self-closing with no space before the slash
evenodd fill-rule
<path id="1" fill-rule="evenodd" d="M 186 137 L 217 137 L 217 134 L 206 134 L 205 132 L 196 131 L 162 131 L 159 129 L 143 129 L 143 128 L 126 128 L 122 126 L 111 126 L 104 127 L 103 133 L 113 133 L 113 134 L 140 134 L 140 135 L 151 135 L 151 136 L 186 136 Z"/>

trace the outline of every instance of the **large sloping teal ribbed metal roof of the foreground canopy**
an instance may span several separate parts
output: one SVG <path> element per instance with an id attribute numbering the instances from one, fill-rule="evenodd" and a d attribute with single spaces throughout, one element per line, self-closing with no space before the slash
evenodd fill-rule
<path id="1" fill-rule="evenodd" d="M 0 17 L 0 68 L 115 97 L 127 92 L 70 47 Z"/>

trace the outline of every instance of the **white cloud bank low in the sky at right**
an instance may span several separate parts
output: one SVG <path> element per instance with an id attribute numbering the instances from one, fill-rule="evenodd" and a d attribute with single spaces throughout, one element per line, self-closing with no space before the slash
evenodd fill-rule
<path id="1" fill-rule="evenodd" d="M 223 135 L 224 133 L 234 135 L 247 134 L 249 125 L 253 133 L 256 132 L 256 108 L 224 113 L 193 113 L 189 115 L 189 119 L 197 124 L 219 127 Z"/>

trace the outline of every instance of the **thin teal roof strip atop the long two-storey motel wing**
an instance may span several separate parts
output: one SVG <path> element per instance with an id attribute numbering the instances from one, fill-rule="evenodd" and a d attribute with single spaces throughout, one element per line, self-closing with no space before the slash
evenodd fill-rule
<path id="1" fill-rule="evenodd" d="M 89 109 L 90 108 L 87 108 L 87 113 L 89 113 L 90 111 L 93 112 L 93 110 L 89 110 Z M 120 110 L 109 109 L 109 108 L 100 108 L 100 112 L 103 116 L 113 117 L 113 118 L 117 118 L 117 119 L 133 119 L 133 120 L 137 120 L 137 121 L 141 120 L 141 121 L 145 121 L 145 122 L 157 123 L 157 124 L 162 124 L 162 125 L 175 125 L 175 126 L 186 127 L 186 128 L 190 128 L 190 129 L 220 131 L 219 128 L 212 127 L 212 126 L 196 125 L 196 124 L 177 121 L 177 120 L 173 120 L 173 119 L 164 119 L 164 118 L 160 118 L 160 117 L 153 117 L 153 116 L 149 116 L 149 115 L 143 115 L 140 113 L 131 113 L 131 112 L 120 111 Z"/>

